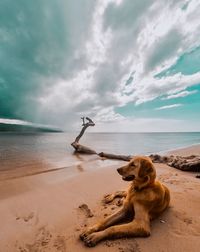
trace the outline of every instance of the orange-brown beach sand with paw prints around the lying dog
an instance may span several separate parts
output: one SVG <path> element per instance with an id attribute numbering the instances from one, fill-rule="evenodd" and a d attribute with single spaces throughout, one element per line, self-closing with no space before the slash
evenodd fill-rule
<path id="1" fill-rule="evenodd" d="M 200 146 L 173 153 L 200 154 Z M 199 251 L 200 180 L 195 173 L 164 164 L 156 164 L 156 169 L 171 191 L 171 204 L 152 222 L 151 236 L 84 246 L 81 230 L 118 208 L 115 203 L 103 205 L 103 195 L 128 186 L 116 172 L 120 164 L 93 160 L 73 167 L 79 174 L 71 177 L 69 169 L 62 169 L 0 180 L 0 252 Z M 79 208 L 82 204 L 86 205 Z"/>

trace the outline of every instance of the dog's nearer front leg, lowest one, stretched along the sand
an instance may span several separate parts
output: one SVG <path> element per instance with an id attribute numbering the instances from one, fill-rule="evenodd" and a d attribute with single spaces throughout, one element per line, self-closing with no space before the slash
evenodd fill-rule
<path id="1" fill-rule="evenodd" d="M 149 235 L 149 222 L 133 220 L 127 224 L 112 226 L 103 231 L 92 233 L 85 237 L 84 242 L 86 246 L 93 247 L 101 240 L 107 238 L 147 237 Z"/>

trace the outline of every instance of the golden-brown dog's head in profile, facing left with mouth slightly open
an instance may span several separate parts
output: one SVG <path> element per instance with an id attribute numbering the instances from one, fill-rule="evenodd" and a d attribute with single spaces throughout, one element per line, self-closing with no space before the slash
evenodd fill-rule
<path id="1" fill-rule="evenodd" d="M 156 178 L 156 170 L 150 158 L 134 157 L 127 165 L 117 169 L 125 181 L 135 181 L 139 187 L 144 187 Z M 142 186 L 143 185 L 143 186 Z"/>

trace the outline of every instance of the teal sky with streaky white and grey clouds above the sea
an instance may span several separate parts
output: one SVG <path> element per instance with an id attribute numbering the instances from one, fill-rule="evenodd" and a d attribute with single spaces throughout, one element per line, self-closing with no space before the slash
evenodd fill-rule
<path id="1" fill-rule="evenodd" d="M 1 0 L 0 118 L 200 131 L 199 0 Z"/>

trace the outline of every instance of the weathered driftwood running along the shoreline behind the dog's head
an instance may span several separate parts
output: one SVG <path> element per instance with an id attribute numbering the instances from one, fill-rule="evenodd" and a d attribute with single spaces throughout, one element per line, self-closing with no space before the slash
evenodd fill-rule
<path id="1" fill-rule="evenodd" d="M 95 150 L 87 146 L 79 144 L 79 140 L 83 136 L 85 130 L 89 126 L 95 126 L 95 123 L 89 117 L 86 117 L 86 118 L 82 117 L 81 119 L 83 120 L 83 124 L 82 124 L 83 128 L 81 129 L 81 132 L 79 133 L 79 135 L 76 137 L 75 141 L 71 143 L 76 153 L 97 154 L 98 156 L 102 158 L 118 159 L 118 160 L 124 160 L 124 161 L 130 161 L 133 158 L 133 156 L 130 156 L 130 155 L 129 156 L 116 155 L 116 154 L 105 153 L 105 152 L 97 153 Z M 85 123 L 85 119 L 87 120 L 87 123 Z M 182 156 L 174 156 L 174 155 L 161 156 L 161 155 L 155 154 L 155 155 L 150 155 L 149 157 L 154 163 L 164 163 L 182 171 L 200 172 L 200 155 L 199 156 L 191 155 L 187 157 L 182 157 Z M 200 175 L 197 175 L 196 177 L 200 178 Z"/>

